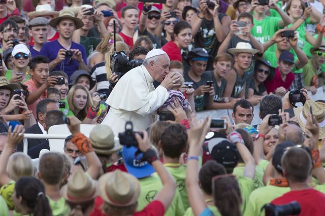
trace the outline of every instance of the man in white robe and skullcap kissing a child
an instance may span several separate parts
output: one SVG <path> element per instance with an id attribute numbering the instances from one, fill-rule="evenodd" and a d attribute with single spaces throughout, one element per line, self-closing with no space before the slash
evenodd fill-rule
<path id="1" fill-rule="evenodd" d="M 169 97 L 167 89 L 175 84 L 177 75 L 167 76 L 170 60 L 160 49 L 151 50 L 143 65 L 129 70 L 115 85 L 106 100 L 110 110 L 102 124 L 115 135 L 125 131 L 125 122 L 132 121 L 134 131 L 147 129 L 156 120 L 156 110 Z M 153 81 L 161 84 L 155 89 Z"/>

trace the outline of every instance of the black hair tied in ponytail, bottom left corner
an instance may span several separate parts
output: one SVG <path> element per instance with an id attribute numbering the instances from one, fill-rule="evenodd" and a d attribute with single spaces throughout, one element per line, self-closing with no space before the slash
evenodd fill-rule
<path id="1" fill-rule="evenodd" d="M 34 216 L 52 216 L 49 200 L 45 196 L 45 188 L 35 177 L 21 177 L 15 184 L 16 197 L 22 197 L 22 203 L 32 209 Z"/>

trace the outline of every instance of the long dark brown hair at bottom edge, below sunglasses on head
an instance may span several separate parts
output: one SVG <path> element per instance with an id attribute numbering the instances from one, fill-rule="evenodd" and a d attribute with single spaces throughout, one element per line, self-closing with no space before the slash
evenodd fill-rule
<path id="1" fill-rule="evenodd" d="M 222 216 L 241 216 L 242 198 L 234 175 L 219 175 L 213 179 L 213 199 Z"/>

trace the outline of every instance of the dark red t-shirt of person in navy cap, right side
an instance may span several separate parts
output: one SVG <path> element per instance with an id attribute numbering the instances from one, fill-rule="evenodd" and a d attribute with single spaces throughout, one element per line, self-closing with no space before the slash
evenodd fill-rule
<path id="1" fill-rule="evenodd" d="M 289 89 L 291 83 L 295 80 L 295 74 L 290 72 L 286 75 L 285 81 L 283 82 L 281 78 L 281 73 L 279 71 L 279 67 L 276 68 L 276 73 L 273 80 L 267 80 L 264 82 L 266 90 L 268 93 L 274 92 L 277 88 L 283 86 L 286 90 Z"/>

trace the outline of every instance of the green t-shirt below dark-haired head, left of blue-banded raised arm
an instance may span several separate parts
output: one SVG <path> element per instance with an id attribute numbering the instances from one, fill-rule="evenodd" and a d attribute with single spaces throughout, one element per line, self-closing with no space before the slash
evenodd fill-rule
<path id="1" fill-rule="evenodd" d="M 189 201 L 188 201 L 187 190 L 185 185 L 186 166 L 185 165 L 181 166 L 180 164 L 173 164 L 173 163 L 168 163 L 164 165 L 166 169 L 169 171 L 169 173 L 171 173 L 171 175 L 174 177 L 177 184 L 177 189 L 179 191 L 179 194 L 183 202 L 184 209 L 187 209 L 189 207 Z"/>

